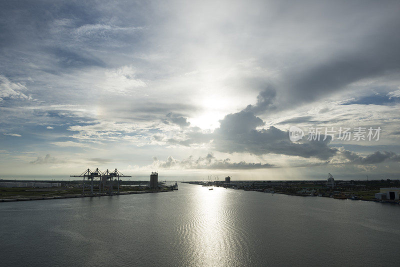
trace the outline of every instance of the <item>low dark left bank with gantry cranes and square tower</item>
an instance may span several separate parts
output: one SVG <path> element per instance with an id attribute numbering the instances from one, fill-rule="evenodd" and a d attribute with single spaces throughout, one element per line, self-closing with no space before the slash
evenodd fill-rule
<path id="1" fill-rule="evenodd" d="M 3 180 L 0 179 L 0 202 L 59 199 L 75 197 L 95 197 L 106 195 L 168 192 L 177 190 L 177 183 L 167 185 L 158 181 L 158 172 L 151 172 L 150 180 L 130 181 L 122 178 L 117 169 L 100 171 L 98 168 L 91 171 L 86 169 L 79 175 L 81 180 L 72 181 L 32 181 L 32 180 Z"/>

